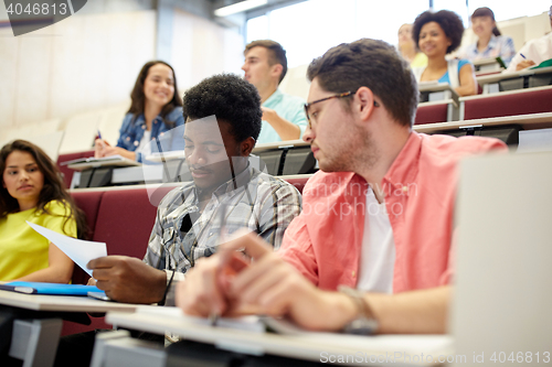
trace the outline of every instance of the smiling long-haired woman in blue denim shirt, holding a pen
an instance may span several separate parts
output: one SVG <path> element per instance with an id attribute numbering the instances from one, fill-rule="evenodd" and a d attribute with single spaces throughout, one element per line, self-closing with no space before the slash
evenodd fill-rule
<path id="1" fill-rule="evenodd" d="M 96 158 L 119 154 L 142 162 L 144 155 L 159 151 L 158 144 L 150 142 L 161 137 L 161 150 L 184 149 L 181 129 L 178 129 L 178 133 L 169 131 L 184 125 L 177 76 L 169 64 L 162 61 L 146 63 L 138 74 L 130 98 L 130 108 L 123 120 L 117 145 L 110 147 L 103 139 L 96 139 Z"/>

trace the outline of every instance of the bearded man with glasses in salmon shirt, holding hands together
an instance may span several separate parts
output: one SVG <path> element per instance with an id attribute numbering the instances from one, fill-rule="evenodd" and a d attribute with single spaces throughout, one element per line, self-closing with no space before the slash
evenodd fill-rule
<path id="1" fill-rule="evenodd" d="M 202 316 L 284 315 L 318 331 L 444 333 L 458 161 L 506 145 L 414 132 L 414 75 L 382 41 L 333 47 L 307 76 L 304 140 L 321 171 L 302 213 L 277 252 L 253 235 L 221 247 L 179 284 L 177 304 Z"/>

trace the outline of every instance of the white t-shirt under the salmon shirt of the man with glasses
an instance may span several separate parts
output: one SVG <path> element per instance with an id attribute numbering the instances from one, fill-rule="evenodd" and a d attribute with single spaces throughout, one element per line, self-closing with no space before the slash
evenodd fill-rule
<path id="1" fill-rule="evenodd" d="M 385 202 L 378 203 L 370 187 L 367 193 L 364 235 L 357 289 L 364 292 L 393 293 L 395 241 Z"/>

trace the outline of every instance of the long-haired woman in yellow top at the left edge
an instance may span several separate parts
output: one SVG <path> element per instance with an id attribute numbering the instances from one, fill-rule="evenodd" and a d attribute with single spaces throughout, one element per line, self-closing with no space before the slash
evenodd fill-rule
<path id="1" fill-rule="evenodd" d="M 15 140 L 0 151 L 0 281 L 67 283 L 73 260 L 25 222 L 77 237 L 84 213 L 64 188 L 56 165 L 39 147 Z"/>

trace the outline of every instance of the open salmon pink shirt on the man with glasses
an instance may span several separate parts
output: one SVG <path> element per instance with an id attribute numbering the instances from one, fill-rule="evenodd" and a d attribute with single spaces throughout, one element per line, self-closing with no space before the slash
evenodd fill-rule
<path id="1" fill-rule="evenodd" d="M 452 276 L 453 212 L 461 158 L 507 151 L 497 139 L 412 132 L 380 183 L 393 238 L 393 292 L 447 284 Z M 278 253 L 315 285 L 357 287 L 368 183 L 351 172 L 316 173 L 302 212 Z"/>

